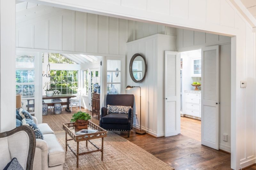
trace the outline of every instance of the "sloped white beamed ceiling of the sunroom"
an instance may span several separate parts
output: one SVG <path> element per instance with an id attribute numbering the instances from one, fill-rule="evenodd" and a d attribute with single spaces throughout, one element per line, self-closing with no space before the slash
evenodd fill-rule
<path id="1" fill-rule="evenodd" d="M 94 55 L 84 55 L 84 54 L 61 54 L 68 59 L 76 62 L 77 64 L 86 64 L 98 62 L 98 56 Z"/>

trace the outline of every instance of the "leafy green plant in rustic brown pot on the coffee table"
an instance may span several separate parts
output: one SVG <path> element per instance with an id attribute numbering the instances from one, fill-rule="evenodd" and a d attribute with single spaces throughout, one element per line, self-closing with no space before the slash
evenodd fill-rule
<path id="1" fill-rule="evenodd" d="M 72 116 L 70 122 L 75 122 L 75 131 L 80 131 L 82 129 L 87 129 L 88 120 L 91 119 L 91 116 L 88 113 L 79 111 Z"/>

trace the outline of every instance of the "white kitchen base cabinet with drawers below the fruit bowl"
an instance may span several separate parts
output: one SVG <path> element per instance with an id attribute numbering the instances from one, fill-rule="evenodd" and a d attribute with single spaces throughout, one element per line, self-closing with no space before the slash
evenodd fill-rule
<path id="1" fill-rule="evenodd" d="M 185 90 L 185 110 L 183 114 L 201 118 L 201 91 Z"/>

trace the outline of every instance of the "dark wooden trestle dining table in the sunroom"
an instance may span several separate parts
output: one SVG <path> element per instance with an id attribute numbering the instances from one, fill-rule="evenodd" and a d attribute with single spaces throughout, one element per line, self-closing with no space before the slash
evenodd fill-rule
<path id="1" fill-rule="evenodd" d="M 67 112 L 71 112 L 69 109 L 69 99 L 72 97 L 76 97 L 76 95 L 72 95 L 72 94 L 65 94 L 65 95 L 52 95 L 52 96 L 43 96 L 43 100 L 47 100 L 47 99 L 67 99 L 67 102 L 58 102 L 61 105 L 67 105 L 66 107 L 66 111 Z M 56 102 L 55 102 L 56 103 Z M 54 103 L 43 103 L 43 104 L 48 104 L 48 106 L 54 106 Z"/>

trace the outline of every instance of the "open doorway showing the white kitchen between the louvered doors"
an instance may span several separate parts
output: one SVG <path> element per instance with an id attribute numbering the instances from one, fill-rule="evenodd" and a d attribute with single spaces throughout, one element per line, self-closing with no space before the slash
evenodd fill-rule
<path id="1" fill-rule="evenodd" d="M 180 52 L 180 133 L 201 141 L 201 48 Z"/>

